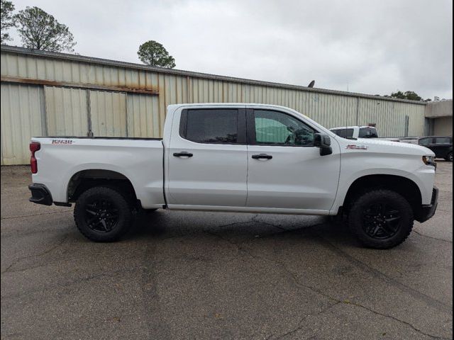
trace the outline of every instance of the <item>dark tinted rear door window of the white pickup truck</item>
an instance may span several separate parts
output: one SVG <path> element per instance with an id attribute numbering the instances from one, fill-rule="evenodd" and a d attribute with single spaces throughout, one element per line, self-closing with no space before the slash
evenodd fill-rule
<path id="1" fill-rule="evenodd" d="M 236 143 L 238 110 L 188 110 L 184 137 L 199 143 Z"/>

